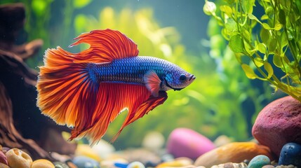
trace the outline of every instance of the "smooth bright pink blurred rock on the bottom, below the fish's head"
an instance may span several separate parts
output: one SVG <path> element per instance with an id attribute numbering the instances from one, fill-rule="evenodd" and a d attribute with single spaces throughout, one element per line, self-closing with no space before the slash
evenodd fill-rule
<path id="1" fill-rule="evenodd" d="M 215 148 L 210 139 L 187 128 L 178 128 L 170 133 L 167 141 L 168 153 L 175 158 L 187 157 L 195 160 Z"/>

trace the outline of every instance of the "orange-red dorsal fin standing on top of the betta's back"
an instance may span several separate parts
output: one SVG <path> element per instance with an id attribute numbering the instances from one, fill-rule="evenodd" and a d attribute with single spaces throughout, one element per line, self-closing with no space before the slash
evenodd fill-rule
<path id="1" fill-rule="evenodd" d="M 128 38 L 120 31 L 112 29 L 93 30 L 89 33 L 81 34 L 74 40 L 77 41 L 69 45 L 69 47 L 79 43 L 88 43 L 90 45 L 90 48 L 87 50 L 74 54 L 76 57 L 74 63 L 112 62 L 113 59 L 135 57 L 139 52 L 137 45 L 131 38 Z"/>

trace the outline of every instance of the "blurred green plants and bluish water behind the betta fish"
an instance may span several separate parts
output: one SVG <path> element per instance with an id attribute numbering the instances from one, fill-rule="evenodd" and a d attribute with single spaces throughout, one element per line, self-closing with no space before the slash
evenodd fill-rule
<path id="1" fill-rule="evenodd" d="M 27 64 L 39 71 L 44 50 L 60 45 L 79 52 L 87 45 L 67 48 L 72 39 L 93 29 L 117 29 L 138 44 L 139 55 L 161 57 L 193 73 L 196 80 L 180 92 L 169 91 L 167 101 L 121 132 L 114 146 L 140 146 L 150 131 L 164 137 L 177 127 L 188 127 L 211 140 L 225 134 L 235 141 L 252 138 L 257 113 L 272 99 L 267 83 L 249 80 L 215 20 L 203 13 L 201 0 L 24 0 L 25 29 L 16 43 L 35 38 L 44 48 Z M 38 115 L 38 114 L 37 114 Z M 109 141 L 119 130 L 126 113 L 109 126 Z"/>

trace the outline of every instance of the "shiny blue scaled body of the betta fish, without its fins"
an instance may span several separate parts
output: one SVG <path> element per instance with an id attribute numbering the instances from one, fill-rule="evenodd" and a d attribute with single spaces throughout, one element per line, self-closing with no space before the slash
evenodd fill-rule
<path id="1" fill-rule="evenodd" d="M 154 71 L 157 76 L 170 85 L 179 85 L 173 76 L 185 73 L 179 66 L 156 57 L 138 56 L 114 59 L 109 63 L 88 64 L 90 78 L 97 82 L 145 84 L 144 76 Z"/>

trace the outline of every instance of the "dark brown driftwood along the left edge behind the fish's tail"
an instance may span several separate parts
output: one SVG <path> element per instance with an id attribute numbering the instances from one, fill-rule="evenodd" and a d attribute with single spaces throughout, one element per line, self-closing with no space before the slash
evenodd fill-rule
<path id="1" fill-rule="evenodd" d="M 72 155 L 76 145 L 62 138 L 67 127 L 56 125 L 36 107 L 38 73 L 23 60 L 36 54 L 43 41 L 15 45 L 24 21 L 22 3 L 0 6 L 0 145 L 20 148 L 33 159 L 55 160 L 49 152 Z"/>

